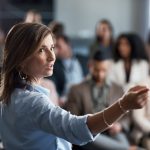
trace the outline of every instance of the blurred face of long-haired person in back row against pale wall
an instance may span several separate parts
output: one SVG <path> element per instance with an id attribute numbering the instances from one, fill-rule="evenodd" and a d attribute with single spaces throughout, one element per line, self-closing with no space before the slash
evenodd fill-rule
<path id="1" fill-rule="evenodd" d="M 97 27 L 97 35 L 103 40 L 110 40 L 112 32 L 106 23 L 101 23 Z"/>

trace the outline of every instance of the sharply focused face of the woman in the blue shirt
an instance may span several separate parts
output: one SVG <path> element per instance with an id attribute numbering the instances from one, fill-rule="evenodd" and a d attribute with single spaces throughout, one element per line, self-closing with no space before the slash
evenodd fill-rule
<path id="1" fill-rule="evenodd" d="M 41 42 L 32 56 L 22 65 L 22 71 L 35 79 L 51 76 L 55 62 L 54 43 L 49 34 Z"/>

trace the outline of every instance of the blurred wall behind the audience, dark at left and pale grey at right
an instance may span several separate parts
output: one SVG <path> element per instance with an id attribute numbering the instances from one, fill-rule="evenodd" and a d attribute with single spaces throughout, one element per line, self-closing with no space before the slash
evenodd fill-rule
<path id="1" fill-rule="evenodd" d="M 101 19 L 112 23 L 115 37 L 131 31 L 144 40 L 150 22 L 149 0 L 0 0 L 0 27 L 7 33 L 31 9 L 41 14 L 44 24 L 62 22 L 67 35 L 83 43 L 94 37 L 95 25 Z M 86 53 L 85 47 L 82 53 Z"/>

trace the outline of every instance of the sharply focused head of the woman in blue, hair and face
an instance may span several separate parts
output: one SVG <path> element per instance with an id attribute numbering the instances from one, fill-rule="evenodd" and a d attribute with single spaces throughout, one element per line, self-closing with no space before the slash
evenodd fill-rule
<path id="1" fill-rule="evenodd" d="M 8 103 L 16 84 L 23 80 L 32 83 L 52 75 L 55 54 L 52 33 L 36 23 L 19 23 L 6 37 L 2 70 L 1 100 Z"/>

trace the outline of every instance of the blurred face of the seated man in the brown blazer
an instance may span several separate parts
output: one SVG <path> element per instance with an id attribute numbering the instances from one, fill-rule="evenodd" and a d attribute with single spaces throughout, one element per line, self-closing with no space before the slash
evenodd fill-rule
<path id="1" fill-rule="evenodd" d="M 93 60 L 90 62 L 89 70 L 93 79 L 97 84 L 105 82 L 109 67 L 110 67 L 109 60 L 105 60 L 105 61 Z"/>

